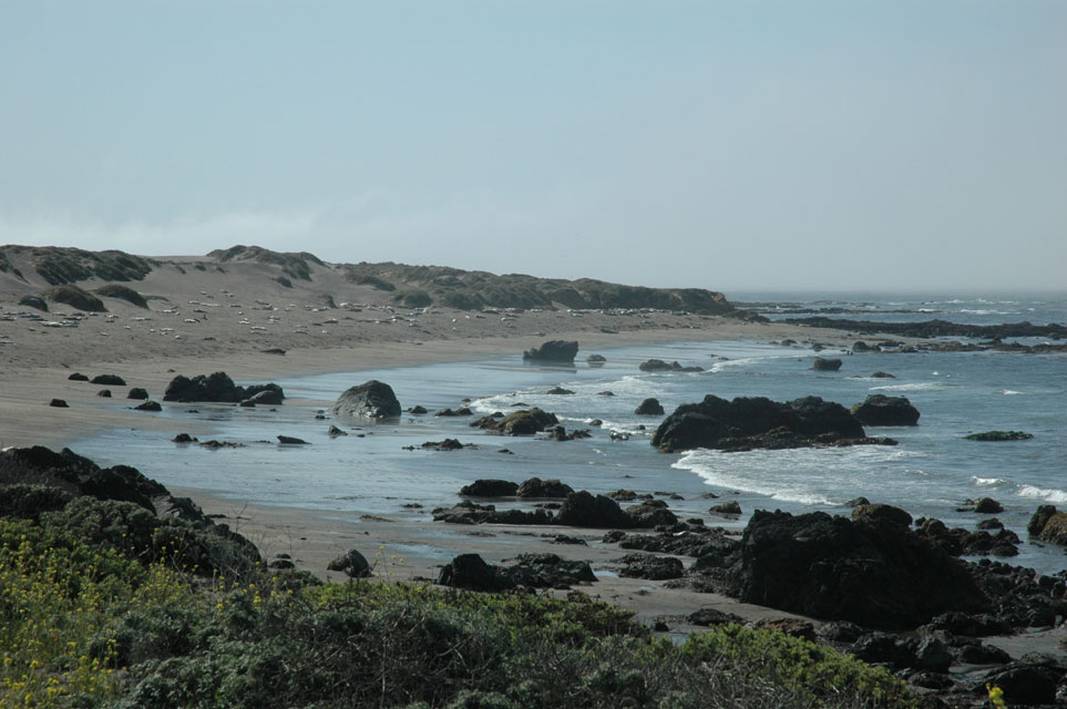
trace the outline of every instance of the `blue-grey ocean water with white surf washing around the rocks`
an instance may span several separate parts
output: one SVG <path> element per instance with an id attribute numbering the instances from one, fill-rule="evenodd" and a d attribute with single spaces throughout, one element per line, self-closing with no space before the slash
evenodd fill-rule
<path id="1" fill-rule="evenodd" d="M 753 294 L 746 300 L 790 300 L 818 308 L 824 302 L 845 309 L 868 308 L 864 319 L 912 317 L 923 308 L 929 319 L 961 322 L 1030 320 L 1067 321 L 1067 296 L 946 298 L 781 296 Z M 972 312 L 988 306 L 996 316 Z M 480 477 L 522 481 L 532 475 L 558 477 L 575 489 L 596 493 L 618 489 L 677 493 L 671 501 L 681 517 L 701 516 L 709 524 L 740 528 L 756 508 L 794 513 L 822 510 L 848 514 L 847 501 L 866 496 L 899 505 L 914 516 L 936 516 L 950 526 L 974 528 L 982 518 L 957 508 L 967 499 L 992 496 L 1005 512 L 997 515 L 1024 538 L 1013 563 L 1050 573 L 1067 567 L 1064 549 L 1030 543 L 1026 522 L 1039 504 L 1067 505 L 1067 357 L 1001 352 L 929 352 L 840 356 L 838 372 L 811 369 L 815 350 L 801 342 L 784 347 L 770 341 L 677 342 L 602 349 L 603 367 L 591 367 L 582 350 L 574 367 L 523 363 L 520 353 L 492 361 L 391 368 L 356 373 L 279 380 L 288 402 L 276 411 L 224 405 L 171 405 L 157 415 L 173 421 L 174 433 L 191 420 L 206 422 L 211 438 L 242 442 L 240 449 L 211 451 L 175 445 L 171 435 L 114 430 L 72 448 L 103 464 L 135 465 L 167 485 L 213 491 L 234 501 L 304 507 L 329 516 L 338 511 L 427 518 L 429 510 L 458 501 L 459 489 Z M 705 368 L 699 373 L 644 373 L 649 358 Z M 875 371 L 895 379 L 874 379 Z M 191 372 L 193 373 L 193 372 Z M 368 379 L 388 382 L 401 404 L 421 404 L 430 415 L 406 414 L 399 422 L 368 424 L 317 420 L 337 395 Z M 547 394 L 555 386 L 571 395 Z M 611 391 L 614 395 L 604 395 Z M 733 398 L 763 395 L 786 401 L 803 395 L 852 405 L 868 394 L 907 397 L 922 417 L 914 428 L 868 428 L 869 435 L 892 436 L 896 446 L 799 449 L 720 453 L 690 451 L 664 454 L 650 445 L 661 417 L 640 417 L 635 407 L 659 399 L 669 413 L 705 394 Z M 470 418 L 440 418 L 434 410 L 458 408 L 464 399 L 475 415 L 513 411 L 517 403 L 554 412 L 568 430 L 589 428 L 592 438 L 557 442 L 537 438 L 502 438 L 471 429 Z M 100 405 L 123 405 L 119 402 Z M 196 413 L 189 410 L 195 409 Z M 592 419 L 603 425 L 591 427 Z M 331 423 L 349 436 L 330 439 Z M 1029 441 L 981 443 L 967 433 L 992 429 L 1023 430 Z M 628 440 L 612 440 L 611 433 Z M 308 446 L 280 446 L 277 434 L 295 435 Z M 173 435 L 173 434 L 172 434 Z M 202 436 L 204 438 L 204 436 Z M 458 438 L 476 449 L 427 451 L 425 441 Z M 414 446 L 415 450 L 406 450 Z M 510 453 L 501 452 L 506 449 Z M 717 518 L 709 506 L 738 500 L 745 514 Z M 419 502 L 423 511 L 403 504 Z M 500 505 L 509 506 L 509 503 Z M 455 549 L 438 549 L 447 558 Z"/>

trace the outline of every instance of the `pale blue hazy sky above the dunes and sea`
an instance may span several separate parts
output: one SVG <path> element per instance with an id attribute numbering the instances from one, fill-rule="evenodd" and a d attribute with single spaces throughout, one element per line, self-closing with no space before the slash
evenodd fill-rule
<path id="1" fill-rule="evenodd" d="M 1067 287 L 1067 2 L 0 0 L 0 243 Z"/>

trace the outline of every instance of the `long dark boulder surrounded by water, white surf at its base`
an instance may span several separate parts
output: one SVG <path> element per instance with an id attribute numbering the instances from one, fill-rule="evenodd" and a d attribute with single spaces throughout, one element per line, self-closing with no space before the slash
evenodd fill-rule
<path id="1" fill-rule="evenodd" d="M 664 452 L 695 448 L 799 448 L 864 439 L 863 427 L 839 403 L 804 397 L 780 403 L 765 397 L 732 401 L 708 394 L 664 419 L 653 445 Z"/>

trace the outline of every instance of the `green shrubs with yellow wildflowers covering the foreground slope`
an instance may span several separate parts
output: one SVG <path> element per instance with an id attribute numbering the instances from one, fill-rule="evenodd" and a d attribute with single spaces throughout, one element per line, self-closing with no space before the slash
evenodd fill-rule
<path id="1" fill-rule="evenodd" d="M 676 646 L 577 592 L 204 583 L 142 563 L 166 525 L 135 505 L 68 507 L 62 528 L 0 520 L 0 706 L 912 706 L 884 670 L 803 640 L 730 626 Z"/>

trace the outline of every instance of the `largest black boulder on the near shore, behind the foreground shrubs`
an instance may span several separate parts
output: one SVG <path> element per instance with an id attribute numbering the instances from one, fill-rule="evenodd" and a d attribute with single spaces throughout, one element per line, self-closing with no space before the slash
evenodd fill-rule
<path id="1" fill-rule="evenodd" d="M 746 603 L 886 630 L 991 605 L 964 563 L 906 527 L 823 512 L 757 511 L 725 578 Z"/>

